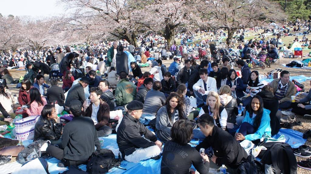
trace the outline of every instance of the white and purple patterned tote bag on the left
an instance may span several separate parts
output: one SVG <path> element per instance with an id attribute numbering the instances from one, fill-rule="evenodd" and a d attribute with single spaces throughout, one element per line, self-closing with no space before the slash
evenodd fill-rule
<path id="1" fill-rule="evenodd" d="M 17 140 L 32 140 L 35 134 L 35 124 L 39 119 L 37 116 L 29 116 L 15 122 Z"/>

